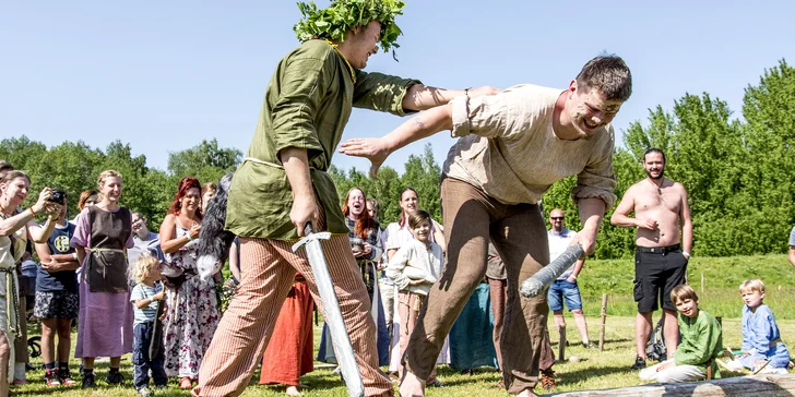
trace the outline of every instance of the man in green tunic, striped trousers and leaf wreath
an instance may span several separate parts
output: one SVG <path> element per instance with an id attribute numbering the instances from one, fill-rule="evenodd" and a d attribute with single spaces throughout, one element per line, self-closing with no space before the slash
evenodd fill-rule
<path id="1" fill-rule="evenodd" d="M 393 395 L 378 368 L 369 298 L 327 170 L 352 107 L 403 116 L 464 95 L 361 71 L 379 44 L 384 50 L 394 45 L 400 35 L 394 16 L 403 7 L 400 0 L 335 0 L 325 10 L 299 3 L 305 20 L 295 29 L 305 43 L 278 63 L 232 182 L 226 229 L 240 237 L 241 284 L 204 357 L 194 396 L 242 393 L 296 272 L 320 302 L 305 251 L 290 251 L 307 221 L 333 233 L 322 248 L 366 395 Z M 468 95 L 494 92 L 482 87 Z"/>

